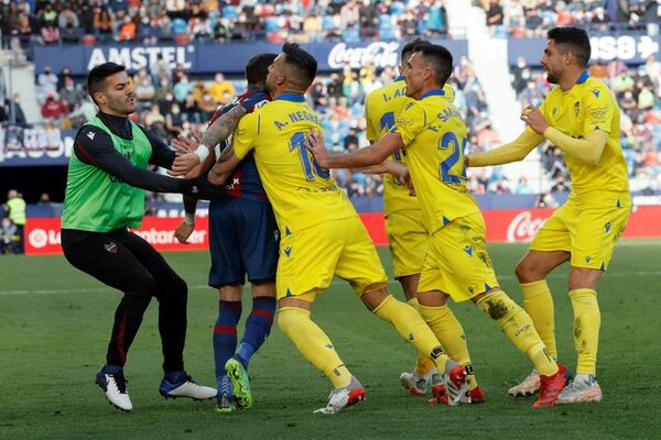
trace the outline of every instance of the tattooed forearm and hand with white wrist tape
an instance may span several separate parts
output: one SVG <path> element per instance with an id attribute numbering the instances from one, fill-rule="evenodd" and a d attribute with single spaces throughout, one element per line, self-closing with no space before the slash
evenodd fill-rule
<path id="1" fill-rule="evenodd" d="M 188 173 L 195 166 L 199 165 L 201 162 L 204 162 L 209 155 L 209 145 L 210 147 L 214 147 L 219 142 L 223 142 L 229 138 L 246 113 L 248 113 L 246 107 L 238 105 L 227 113 L 224 113 L 217 118 L 204 132 L 202 142 L 197 140 L 198 144 L 194 146 L 194 151 L 192 153 L 183 154 L 174 160 L 172 172 L 169 174 L 172 176 L 182 176 Z M 192 146 L 189 143 L 184 144 L 181 141 L 177 142 L 177 140 L 175 140 L 173 144 L 177 147 L 185 145 L 188 148 L 187 151 L 191 151 L 189 148 Z"/>

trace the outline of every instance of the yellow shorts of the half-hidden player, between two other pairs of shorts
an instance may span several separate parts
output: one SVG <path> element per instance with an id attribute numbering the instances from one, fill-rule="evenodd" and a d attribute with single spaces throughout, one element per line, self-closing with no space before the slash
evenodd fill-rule
<path id="1" fill-rule="evenodd" d="M 386 233 L 394 276 L 399 278 L 420 274 L 429 242 L 429 232 L 422 223 L 422 211 L 405 210 L 386 217 Z"/>

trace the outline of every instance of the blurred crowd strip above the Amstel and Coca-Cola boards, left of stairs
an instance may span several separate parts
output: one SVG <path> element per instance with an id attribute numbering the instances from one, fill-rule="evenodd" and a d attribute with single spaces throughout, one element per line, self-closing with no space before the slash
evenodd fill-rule
<path id="1" fill-rule="evenodd" d="M 33 42 L 307 43 L 447 34 L 440 0 L 18 0 L 3 1 L 0 14 L 2 35 L 24 48 Z"/>

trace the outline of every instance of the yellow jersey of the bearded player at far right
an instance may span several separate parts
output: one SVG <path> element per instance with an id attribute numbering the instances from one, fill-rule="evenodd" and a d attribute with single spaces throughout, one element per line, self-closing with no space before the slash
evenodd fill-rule
<path id="1" fill-rule="evenodd" d="M 572 177 L 572 193 L 582 196 L 592 191 L 629 191 L 627 162 L 619 143 L 620 110 L 603 81 L 590 78 L 584 72 L 568 91 L 553 88 L 540 111 L 549 125 L 574 139 L 583 139 L 595 130 L 608 133 L 597 165 L 564 153 Z M 530 127 L 527 130 L 532 131 Z"/>

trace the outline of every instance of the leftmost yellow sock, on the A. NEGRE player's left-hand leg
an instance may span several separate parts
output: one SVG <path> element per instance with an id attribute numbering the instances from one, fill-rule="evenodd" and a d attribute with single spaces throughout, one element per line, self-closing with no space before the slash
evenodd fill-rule
<path id="1" fill-rule="evenodd" d="M 351 382 L 351 373 L 335 351 L 333 342 L 310 319 L 310 311 L 297 307 L 282 307 L 278 311 L 278 326 L 294 342 L 296 349 L 317 370 L 342 388 Z"/>

